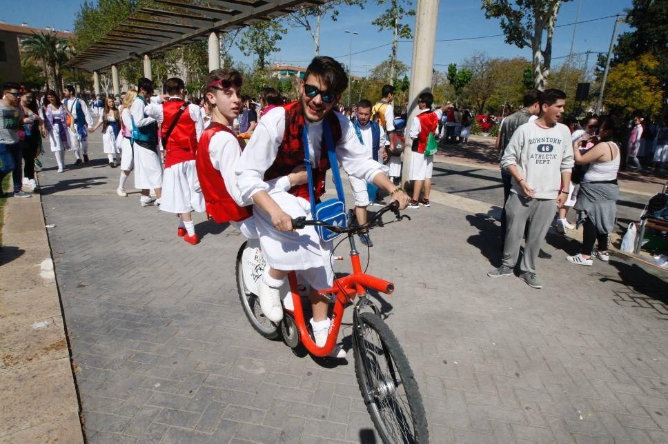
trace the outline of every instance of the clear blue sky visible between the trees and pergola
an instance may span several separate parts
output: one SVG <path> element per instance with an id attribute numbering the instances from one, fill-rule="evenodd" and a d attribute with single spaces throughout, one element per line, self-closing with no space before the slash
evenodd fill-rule
<path id="1" fill-rule="evenodd" d="M 573 0 L 562 3 L 557 25 L 573 23 L 576 21 L 578 1 Z M 81 5 L 80 0 L 34 0 L 30 2 L 30 8 L 26 8 L 21 2 L 6 2 L 0 12 L 0 19 L 7 23 L 27 22 L 30 26 L 43 28 L 54 26 L 59 30 L 71 30 L 76 12 Z M 480 9 L 481 2 L 478 0 L 442 0 L 438 13 L 438 30 L 436 39 L 461 39 L 466 37 L 478 37 L 491 34 L 500 34 L 498 21 L 487 20 L 484 12 Z M 582 0 L 580 10 L 580 21 L 596 19 L 623 12 L 631 6 L 631 0 Z M 389 32 L 377 32 L 371 25 L 371 21 L 382 13 L 385 5 L 377 5 L 371 2 L 360 10 L 357 7 L 345 7 L 340 10 L 339 19 L 331 21 L 324 19 L 321 29 L 320 54 L 337 57 L 340 61 L 348 63 L 348 52 L 350 46 L 350 34 L 344 30 L 355 30 L 359 32 L 353 39 L 353 52 L 366 50 L 384 43 L 390 43 L 392 36 Z M 406 21 L 413 27 L 415 19 L 409 17 Z M 582 23 L 578 25 L 574 52 L 607 52 L 613 29 L 614 19 L 605 19 Z M 620 32 L 628 30 L 628 26 L 622 23 Z M 553 57 L 566 56 L 571 47 L 573 26 L 557 28 L 553 39 Z M 281 51 L 272 55 L 272 61 L 282 61 L 297 65 L 306 65 L 308 59 L 313 57 L 313 41 L 306 30 L 302 28 L 291 28 L 280 42 Z M 391 46 L 378 48 L 361 54 L 353 55 L 353 74 L 364 76 L 367 68 L 389 58 Z M 406 64 L 411 63 L 413 43 L 399 43 L 398 57 Z M 437 42 L 434 63 L 437 70 L 445 70 L 448 63 L 461 63 L 466 57 L 476 52 L 487 52 L 490 57 L 531 57 L 529 48 L 519 49 L 504 43 L 503 37 L 489 39 L 476 39 L 470 41 Z M 252 60 L 244 57 L 237 48 L 230 54 L 233 59 L 250 63 Z M 554 65 L 562 63 L 563 59 L 556 59 Z M 595 57 L 589 63 L 593 65 Z M 365 65 L 371 65 L 366 67 Z M 442 66 L 438 66 L 442 65 Z"/>

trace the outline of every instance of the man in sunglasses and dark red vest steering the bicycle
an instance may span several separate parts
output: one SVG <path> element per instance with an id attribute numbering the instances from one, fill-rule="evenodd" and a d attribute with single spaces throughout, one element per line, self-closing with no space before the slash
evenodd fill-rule
<path id="1" fill-rule="evenodd" d="M 253 200 L 253 214 L 267 268 L 258 283 L 258 297 L 264 315 L 275 323 L 283 319 L 280 287 L 291 270 L 311 286 L 313 336 L 322 347 L 327 339 L 331 320 L 329 299 L 317 290 L 333 285 L 331 241 L 322 241 L 313 226 L 295 232 L 292 219 L 311 218 L 309 197 L 320 201 L 324 194 L 326 171 L 331 168 L 324 131 L 331 131 L 337 161 L 349 175 L 364 179 L 390 193 L 400 209 L 406 208 L 409 196 L 384 174 L 386 168 L 370 159 L 366 148 L 357 139 L 351 121 L 333 112 L 348 77 L 342 65 L 331 57 L 315 57 L 306 68 L 300 85 L 301 97 L 287 105 L 273 108 L 262 116 L 236 167 L 237 183 L 242 199 Z M 306 143 L 305 143 L 306 141 Z M 305 162 L 305 145 L 309 159 L 314 159 L 309 185 L 293 186 L 287 192 L 269 194 L 267 181 L 291 172 Z M 339 168 L 339 165 L 333 165 Z M 340 347 L 331 356 L 343 358 Z"/>

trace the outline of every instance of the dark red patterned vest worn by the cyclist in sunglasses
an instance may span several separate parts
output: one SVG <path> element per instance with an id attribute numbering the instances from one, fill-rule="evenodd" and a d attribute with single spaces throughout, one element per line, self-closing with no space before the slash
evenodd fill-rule
<path id="1" fill-rule="evenodd" d="M 278 154 L 274 163 L 264 173 L 264 181 L 271 181 L 280 176 L 287 176 L 297 165 L 304 164 L 304 110 L 301 101 L 294 101 L 283 105 L 285 108 L 285 132 L 283 141 L 278 149 Z M 325 119 L 329 119 L 330 128 L 334 144 L 341 140 L 341 124 L 336 115 L 331 112 Z M 315 160 L 315 159 L 314 159 Z M 336 165 L 335 168 L 338 168 Z M 320 161 L 316 162 L 313 168 L 313 187 L 315 199 L 319 199 L 325 192 L 325 176 L 330 168 L 327 157 L 327 148 L 324 137 L 320 146 Z M 288 191 L 297 197 L 302 197 L 308 201 L 308 183 L 295 185 Z"/>

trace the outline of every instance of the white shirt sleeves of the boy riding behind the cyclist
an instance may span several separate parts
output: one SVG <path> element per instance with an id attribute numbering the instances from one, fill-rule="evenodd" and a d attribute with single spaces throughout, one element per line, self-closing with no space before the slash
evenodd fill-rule
<path id="1" fill-rule="evenodd" d="M 209 160 L 211 161 L 211 165 L 223 176 L 225 188 L 228 194 L 232 196 L 232 199 L 235 200 L 237 205 L 245 207 L 246 205 L 252 205 L 253 201 L 242 197 L 242 192 L 239 190 L 237 184 L 235 167 L 241 155 L 242 150 L 239 147 L 239 141 L 232 134 L 226 131 L 219 131 L 211 137 L 209 141 Z M 268 181 L 266 185 L 266 190 L 269 194 L 276 191 L 288 191 L 292 188 L 288 176 L 280 176 Z"/>

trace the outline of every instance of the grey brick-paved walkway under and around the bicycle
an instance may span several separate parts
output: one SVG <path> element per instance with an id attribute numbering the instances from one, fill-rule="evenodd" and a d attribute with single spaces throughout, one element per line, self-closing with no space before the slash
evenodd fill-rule
<path id="1" fill-rule="evenodd" d="M 377 442 L 352 359 L 324 366 L 248 325 L 239 233 L 200 215 L 202 243 L 181 241 L 174 216 L 116 196 L 97 137 L 86 168 L 45 159 L 41 174 L 88 441 Z M 493 212 L 440 197 L 375 230 L 369 268 L 397 285 L 380 303 L 431 442 L 668 442 L 668 274 L 618 257 L 578 268 L 564 261 L 577 244 L 550 236 L 543 290 L 488 278 Z"/>

